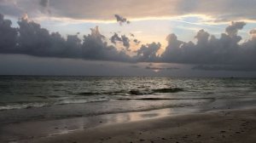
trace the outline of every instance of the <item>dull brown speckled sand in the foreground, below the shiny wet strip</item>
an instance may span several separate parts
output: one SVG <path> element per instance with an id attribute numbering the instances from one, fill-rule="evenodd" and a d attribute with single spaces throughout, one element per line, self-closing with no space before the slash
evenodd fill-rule
<path id="1" fill-rule="evenodd" d="M 67 134 L 32 138 L 35 143 L 256 142 L 256 109 L 193 113 L 111 123 Z"/>

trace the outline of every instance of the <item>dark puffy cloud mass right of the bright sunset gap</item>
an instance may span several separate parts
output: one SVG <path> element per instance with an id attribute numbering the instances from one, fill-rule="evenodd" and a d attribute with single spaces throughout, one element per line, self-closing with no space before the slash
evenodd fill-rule
<path id="1" fill-rule="evenodd" d="M 255 59 L 255 39 L 241 43 L 237 31 L 245 26 L 244 22 L 232 22 L 219 38 L 211 36 L 207 31 L 198 31 L 197 43 L 185 43 L 177 40 L 175 34 L 167 37 L 169 45 L 161 54 L 165 62 L 188 64 L 220 64 L 220 65 L 252 65 Z M 253 47 L 254 46 L 254 47 Z"/>

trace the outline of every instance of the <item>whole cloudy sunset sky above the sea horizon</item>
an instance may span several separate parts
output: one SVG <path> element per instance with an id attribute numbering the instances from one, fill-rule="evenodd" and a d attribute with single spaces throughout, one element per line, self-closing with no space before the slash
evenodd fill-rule
<path id="1" fill-rule="evenodd" d="M 0 0 L 0 74 L 256 77 L 255 0 Z"/>

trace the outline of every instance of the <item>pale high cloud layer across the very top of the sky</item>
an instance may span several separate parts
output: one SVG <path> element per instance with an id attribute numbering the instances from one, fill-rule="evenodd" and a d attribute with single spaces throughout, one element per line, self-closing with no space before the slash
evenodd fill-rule
<path id="1" fill-rule="evenodd" d="M 47 2 L 47 0 L 2 0 L 0 1 L 0 13 L 19 17 L 19 12 L 22 11 L 27 12 L 32 18 L 40 17 L 42 14 L 38 13 L 38 9 L 46 6 Z M 131 20 L 149 17 L 170 18 L 187 14 L 201 14 L 212 18 L 211 21 L 207 22 L 227 22 L 231 20 L 255 21 L 255 5 L 256 2 L 254 0 L 50 1 L 52 16 L 79 20 L 113 20 L 113 14 L 118 14 L 118 16 L 125 15 Z M 121 16 L 119 18 L 119 20 L 123 20 Z"/>

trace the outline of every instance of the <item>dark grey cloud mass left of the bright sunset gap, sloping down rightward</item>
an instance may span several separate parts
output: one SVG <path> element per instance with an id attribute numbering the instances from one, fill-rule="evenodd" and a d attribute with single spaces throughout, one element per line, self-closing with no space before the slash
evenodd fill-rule
<path id="1" fill-rule="evenodd" d="M 0 52 L 3 54 L 29 54 L 41 57 L 82 58 L 86 60 L 130 61 L 124 51 L 108 46 L 98 27 L 84 36 L 68 35 L 67 39 L 58 32 L 49 33 L 39 24 L 22 18 L 19 28 L 12 28 L 10 20 L 0 15 Z M 18 34 L 19 33 L 19 34 Z"/>

